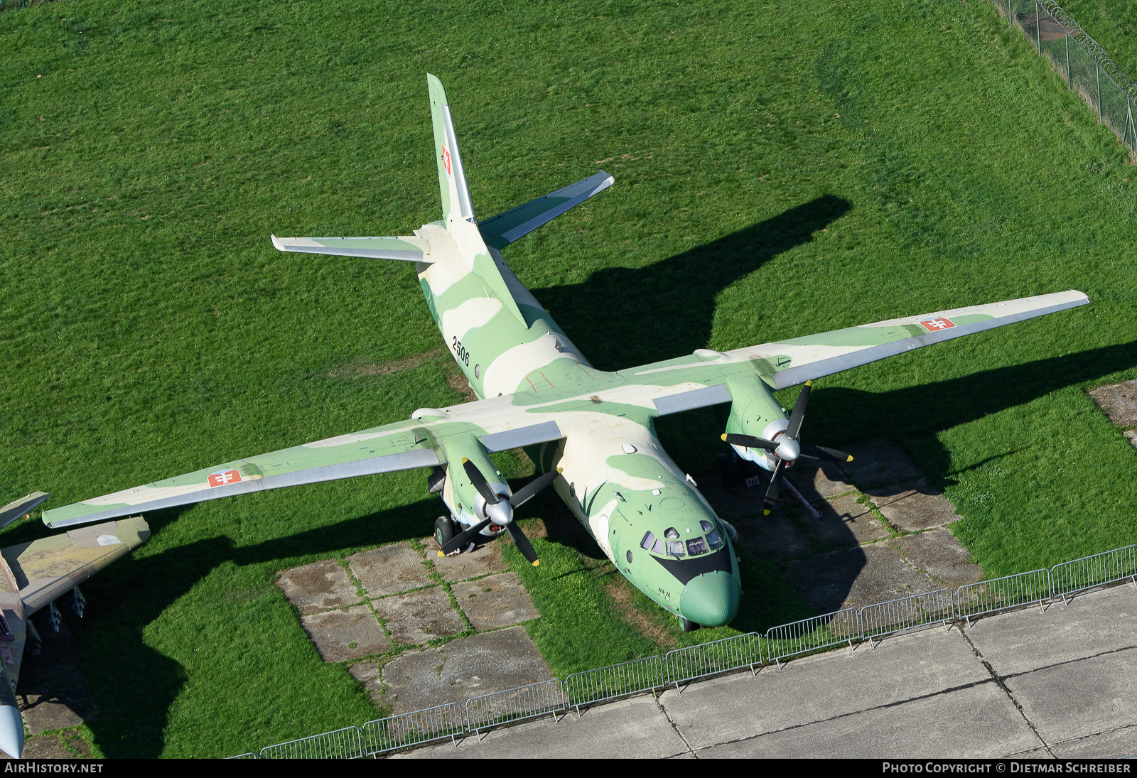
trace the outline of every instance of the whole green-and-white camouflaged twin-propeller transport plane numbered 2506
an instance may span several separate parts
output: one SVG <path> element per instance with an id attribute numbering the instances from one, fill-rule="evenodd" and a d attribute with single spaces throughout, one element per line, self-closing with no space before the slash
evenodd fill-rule
<path id="1" fill-rule="evenodd" d="M 276 238 L 282 251 L 415 263 L 431 316 L 480 399 L 410 419 L 206 467 L 63 508 L 66 527 L 218 497 L 430 467 L 450 516 L 439 555 L 508 532 L 538 564 L 515 510 L 550 483 L 620 571 L 682 620 L 719 626 L 738 612 L 733 530 L 664 453 L 656 416 L 730 403 L 724 439 L 771 471 L 766 508 L 799 457 L 846 458 L 798 439 L 812 379 L 951 338 L 1085 305 L 1078 291 L 906 316 L 807 338 L 597 370 L 517 280 L 501 249 L 613 183 L 603 171 L 479 221 L 442 84 L 428 76 L 442 221 L 401 238 Z M 790 414 L 771 394 L 805 383 Z M 543 473 L 514 493 L 489 454 L 524 448 Z M 445 562 L 439 561 L 439 564 Z"/>

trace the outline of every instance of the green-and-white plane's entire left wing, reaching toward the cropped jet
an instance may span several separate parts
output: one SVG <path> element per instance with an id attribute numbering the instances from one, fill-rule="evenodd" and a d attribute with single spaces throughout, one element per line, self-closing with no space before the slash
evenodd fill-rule
<path id="1" fill-rule="evenodd" d="M 43 512 L 48 527 L 69 527 L 250 491 L 430 467 L 447 461 L 447 440 L 478 438 L 489 452 L 561 437 L 556 422 L 528 417 L 509 397 L 426 409 L 417 419 L 304 444 L 271 454 L 124 489 Z"/>

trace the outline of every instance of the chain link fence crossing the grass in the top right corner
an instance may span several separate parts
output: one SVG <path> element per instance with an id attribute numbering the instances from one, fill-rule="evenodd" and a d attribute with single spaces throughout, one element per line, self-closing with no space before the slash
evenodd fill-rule
<path id="1" fill-rule="evenodd" d="M 1137 83 L 1126 75 L 1105 49 L 1053 0 L 993 0 L 1007 24 L 1018 27 L 1039 57 L 1051 65 L 1113 131 L 1137 162 L 1134 104 Z"/>

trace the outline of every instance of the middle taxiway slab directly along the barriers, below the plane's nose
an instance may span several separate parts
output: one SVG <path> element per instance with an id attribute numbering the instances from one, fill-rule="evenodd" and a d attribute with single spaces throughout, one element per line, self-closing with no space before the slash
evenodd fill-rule
<path id="1" fill-rule="evenodd" d="M 956 630 L 929 629 L 877 648 L 863 644 L 794 660 L 781 670 L 767 667 L 753 679 L 744 673 L 692 684 L 682 694 L 670 689 L 659 702 L 687 743 L 705 748 L 989 680 Z M 898 720 L 910 731 L 929 729 Z"/>

